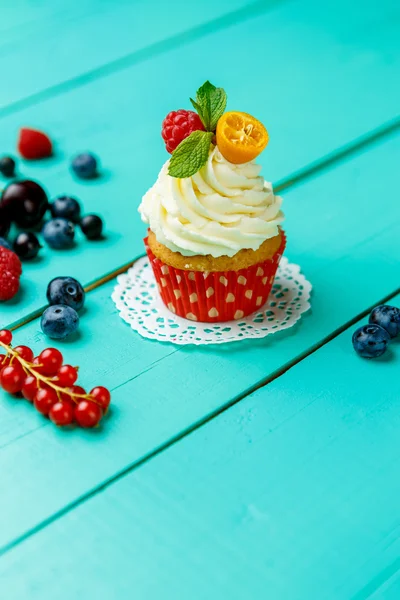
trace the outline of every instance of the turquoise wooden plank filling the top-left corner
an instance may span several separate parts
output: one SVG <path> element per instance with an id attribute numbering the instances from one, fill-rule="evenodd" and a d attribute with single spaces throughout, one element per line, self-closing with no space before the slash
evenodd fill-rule
<path id="1" fill-rule="evenodd" d="M 280 0 L 284 2 L 285 0 Z M 207 29 L 251 18 L 270 10 L 279 0 L 204 0 L 201 10 L 194 0 L 152 2 L 136 0 L 83 0 L 65 3 L 27 0 L 5 7 L 0 31 L 0 69 L 7 85 L 0 96 L 1 110 L 21 101 L 37 101 L 37 95 L 137 53 L 151 55 L 162 50 L 160 42 L 175 45 L 207 33 Z M 154 13 L 157 18 L 154 18 Z M 219 22 L 222 19 L 221 22 Z M 216 21 L 214 23 L 214 21 Z M 181 39 L 182 38 L 182 39 Z M 29 69 L 24 68 L 29 64 Z M 21 76 L 21 69 L 23 77 Z"/>

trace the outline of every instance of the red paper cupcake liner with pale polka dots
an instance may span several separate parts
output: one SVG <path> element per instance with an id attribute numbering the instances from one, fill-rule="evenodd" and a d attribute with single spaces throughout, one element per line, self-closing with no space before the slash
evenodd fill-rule
<path id="1" fill-rule="evenodd" d="M 212 273 L 166 265 L 144 241 L 165 306 L 190 321 L 217 323 L 242 319 L 266 303 L 286 246 L 281 233 L 281 245 L 270 259 L 239 271 Z"/>

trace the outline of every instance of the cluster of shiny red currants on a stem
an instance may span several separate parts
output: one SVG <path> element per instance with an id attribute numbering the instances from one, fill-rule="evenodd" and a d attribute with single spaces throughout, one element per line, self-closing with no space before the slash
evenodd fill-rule
<path id="1" fill-rule="evenodd" d="M 12 333 L 0 331 L 0 385 L 9 394 L 21 394 L 55 425 L 78 423 L 95 427 L 110 404 L 110 392 L 97 386 L 87 394 L 75 385 L 78 369 L 63 364 L 56 348 L 46 348 L 34 358 L 28 346 L 11 347 Z"/>

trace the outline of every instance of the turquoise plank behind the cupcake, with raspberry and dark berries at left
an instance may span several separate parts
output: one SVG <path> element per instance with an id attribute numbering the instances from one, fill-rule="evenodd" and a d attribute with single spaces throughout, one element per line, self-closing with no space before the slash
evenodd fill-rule
<path id="1" fill-rule="evenodd" d="M 52 277 L 73 273 L 89 284 L 142 253 L 144 228 L 136 207 L 166 158 L 161 120 L 207 77 L 226 87 L 230 108 L 239 106 L 267 124 L 271 143 L 261 162 L 266 178 L 274 181 L 290 180 L 322 155 L 393 122 L 399 98 L 393 2 L 362 3 L 362 11 L 360 6 L 344 0 L 324 8 L 316 0 L 285 2 L 258 18 L 4 118 L 6 149 L 14 146 L 21 123 L 54 135 L 57 156 L 23 164 L 23 175 L 43 181 L 51 196 L 76 194 L 86 211 L 104 215 L 108 234 L 102 244 L 79 241 L 66 253 L 45 249 L 39 262 L 26 265 L 21 297 L 2 306 L 2 324 L 18 323 L 43 308 Z M 371 28 L 372 23 L 380 26 Z M 215 60 L 216 47 L 223 70 Z M 176 65 L 185 77 L 176 78 Z M 238 65 L 257 94 L 242 85 Z M 104 176 L 83 185 L 72 180 L 68 159 L 88 146 L 100 155 Z"/>

